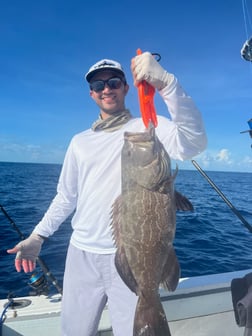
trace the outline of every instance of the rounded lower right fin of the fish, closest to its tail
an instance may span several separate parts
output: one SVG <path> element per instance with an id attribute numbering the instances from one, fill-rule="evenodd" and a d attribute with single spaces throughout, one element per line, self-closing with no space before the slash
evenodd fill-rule
<path id="1" fill-rule="evenodd" d="M 163 269 L 161 284 L 168 291 L 173 292 L 177 288 L 179 278 L 180 266 L 174 248 L 172 247 Z"/>

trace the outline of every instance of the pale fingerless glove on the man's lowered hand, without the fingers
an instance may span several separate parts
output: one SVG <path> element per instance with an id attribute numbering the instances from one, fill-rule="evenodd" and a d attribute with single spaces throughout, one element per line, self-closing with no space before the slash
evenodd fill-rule
<path id="1" fill-rule="evenodd" d="M 22 240 L 15 246 L 15 248 L 18 249 L 16 259 L 35 262 L 40 253 L 43 242 L 43 237 L 36 233 L 32 233 L 27 239 Z"/>

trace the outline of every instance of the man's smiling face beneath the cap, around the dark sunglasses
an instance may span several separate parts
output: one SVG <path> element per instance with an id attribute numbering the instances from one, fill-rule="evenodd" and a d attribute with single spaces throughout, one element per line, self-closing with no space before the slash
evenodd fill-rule
<path id="1" fill-rule="evenodd" d="M 91 83 L 97 80 L 108 80 L 114 77 L 120 78 L 116 72 L 101 71 L 94 75 Z M 118 89 L 112 89 L 106 83 L 104 89 L 101 91 L 95 92 L 94 90 L 90 90 L 90 96 L 100 107 L 102 118 L 106 119 L 111 114 L 125 110 L 125 96 L 128 90 L 128 84 L 124 84 L 123 81 Z"/>

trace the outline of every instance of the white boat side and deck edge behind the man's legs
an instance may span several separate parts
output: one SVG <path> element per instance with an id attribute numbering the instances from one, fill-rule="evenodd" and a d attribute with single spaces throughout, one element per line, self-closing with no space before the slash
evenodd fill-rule
<path id="1" fill-rule="evenodd" d="M 175 292 L 160 288 L 161 301 L 172 336 L 241 336 L 234 314 L 231 282 L 252 270 L 181 278 Z M 3 311 L 7 299 L 0 300 Z M 11 306 L 10 306 L 11 307 Z M 61 295 L 15 298 L 6 309 L 0 336 L 60 335 Z M 85 318 L 85 316 L 84 316 Z M 108 308 L 99 325 L 99 336 L 112 336 Z"/>

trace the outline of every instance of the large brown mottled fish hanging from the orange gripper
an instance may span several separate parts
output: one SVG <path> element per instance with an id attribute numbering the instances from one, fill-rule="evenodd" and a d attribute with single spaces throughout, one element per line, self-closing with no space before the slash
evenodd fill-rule
<path id="1" fill-rule="evenodd" d="M 115 264 L 138 302 L 134 336 L 169 336 L 159 286 L 177 287 L 180 266 L 173 239 L 176 209 L 192 210 L 174 191 L 169 155 L 151 125 L 145 132 L 124 134 L 122 193 L 113 206 Z"/>

